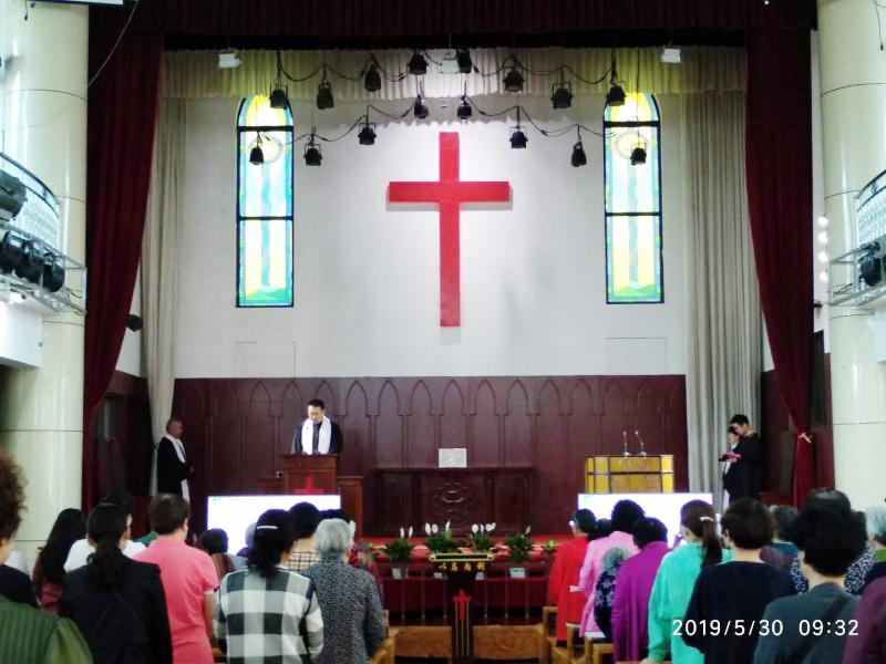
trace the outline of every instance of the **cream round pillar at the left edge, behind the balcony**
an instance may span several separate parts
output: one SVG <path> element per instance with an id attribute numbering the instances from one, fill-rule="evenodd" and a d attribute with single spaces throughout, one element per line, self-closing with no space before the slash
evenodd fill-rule
<path id="1" fill-rule="evenodd" d="M 85 262 L 89 13 L 0 0 L 4 23 L 0 148 L 40 177 L 61 206 L 61 250 Z M 68 286 L 82 287 L 69 273 Z M 81 505 L 83 332 L 76 314 L 44 321 L 43 366 L 0 374 L 0 447 L 27 476 L 17 548 L 33 561 L 59 511 Z"/>

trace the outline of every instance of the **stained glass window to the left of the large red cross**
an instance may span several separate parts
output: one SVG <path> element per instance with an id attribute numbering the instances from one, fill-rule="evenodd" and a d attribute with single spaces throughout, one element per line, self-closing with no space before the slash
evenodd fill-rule
<path id="1" fill-rule="evenodd" d="M 237 115 L 237 307 L 292 307 L 292 113 L 264 95 Z"/>

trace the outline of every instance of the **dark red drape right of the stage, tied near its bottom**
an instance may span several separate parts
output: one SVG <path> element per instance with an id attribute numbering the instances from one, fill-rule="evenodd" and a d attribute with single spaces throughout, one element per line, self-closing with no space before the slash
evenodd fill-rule
<path id="1" fill-rule="evenodd" d="M 813 488 L 811 85 L 807 31 L 748 35 L 748 207 L 775 375 L 797 434 L 795 505 Z"/>

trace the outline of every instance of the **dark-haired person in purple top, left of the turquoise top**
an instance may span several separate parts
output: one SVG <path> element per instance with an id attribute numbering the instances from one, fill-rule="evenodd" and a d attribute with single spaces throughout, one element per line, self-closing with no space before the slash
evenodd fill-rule
<path id="1" fill-rule="evenodd" d="M 632 529 L 637 556 L 621 563 L 612 600 L 612 658 L 641 660 L 649 652 L 649 595 L 668 553 L 668 529 L 658 519 L 639 519 Z"/>

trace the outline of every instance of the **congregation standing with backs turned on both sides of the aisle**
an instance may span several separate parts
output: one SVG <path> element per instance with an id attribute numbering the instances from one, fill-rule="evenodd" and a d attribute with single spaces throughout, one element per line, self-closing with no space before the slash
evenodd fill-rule
<path id="1" fill-rule="evenodd" d="M 24 505 L 0 455 L 0 561 Z M 378 573 L 341 510 L 271 509 L 247 547 L 189 535 L 189 505 L 158 495 L 133 541 L 132 497 L 63 510 L 33 575 L 0 566 L 0 661 L 21 663 L 365 664 L 385 637 Z M 616 662 L 875 664 L 886 657 L 886 505 L 854 511 L 817 490 L 797 512 L 752 498 L 722 517 L 691 500 L 680 532 L 631 500 L 579 509 L 549 578 L 557 637 L 614 644 Z M 147 546 L 145 546 L 145 542 Z M 369 568 L 369 569 L 367 569 Z"/>

